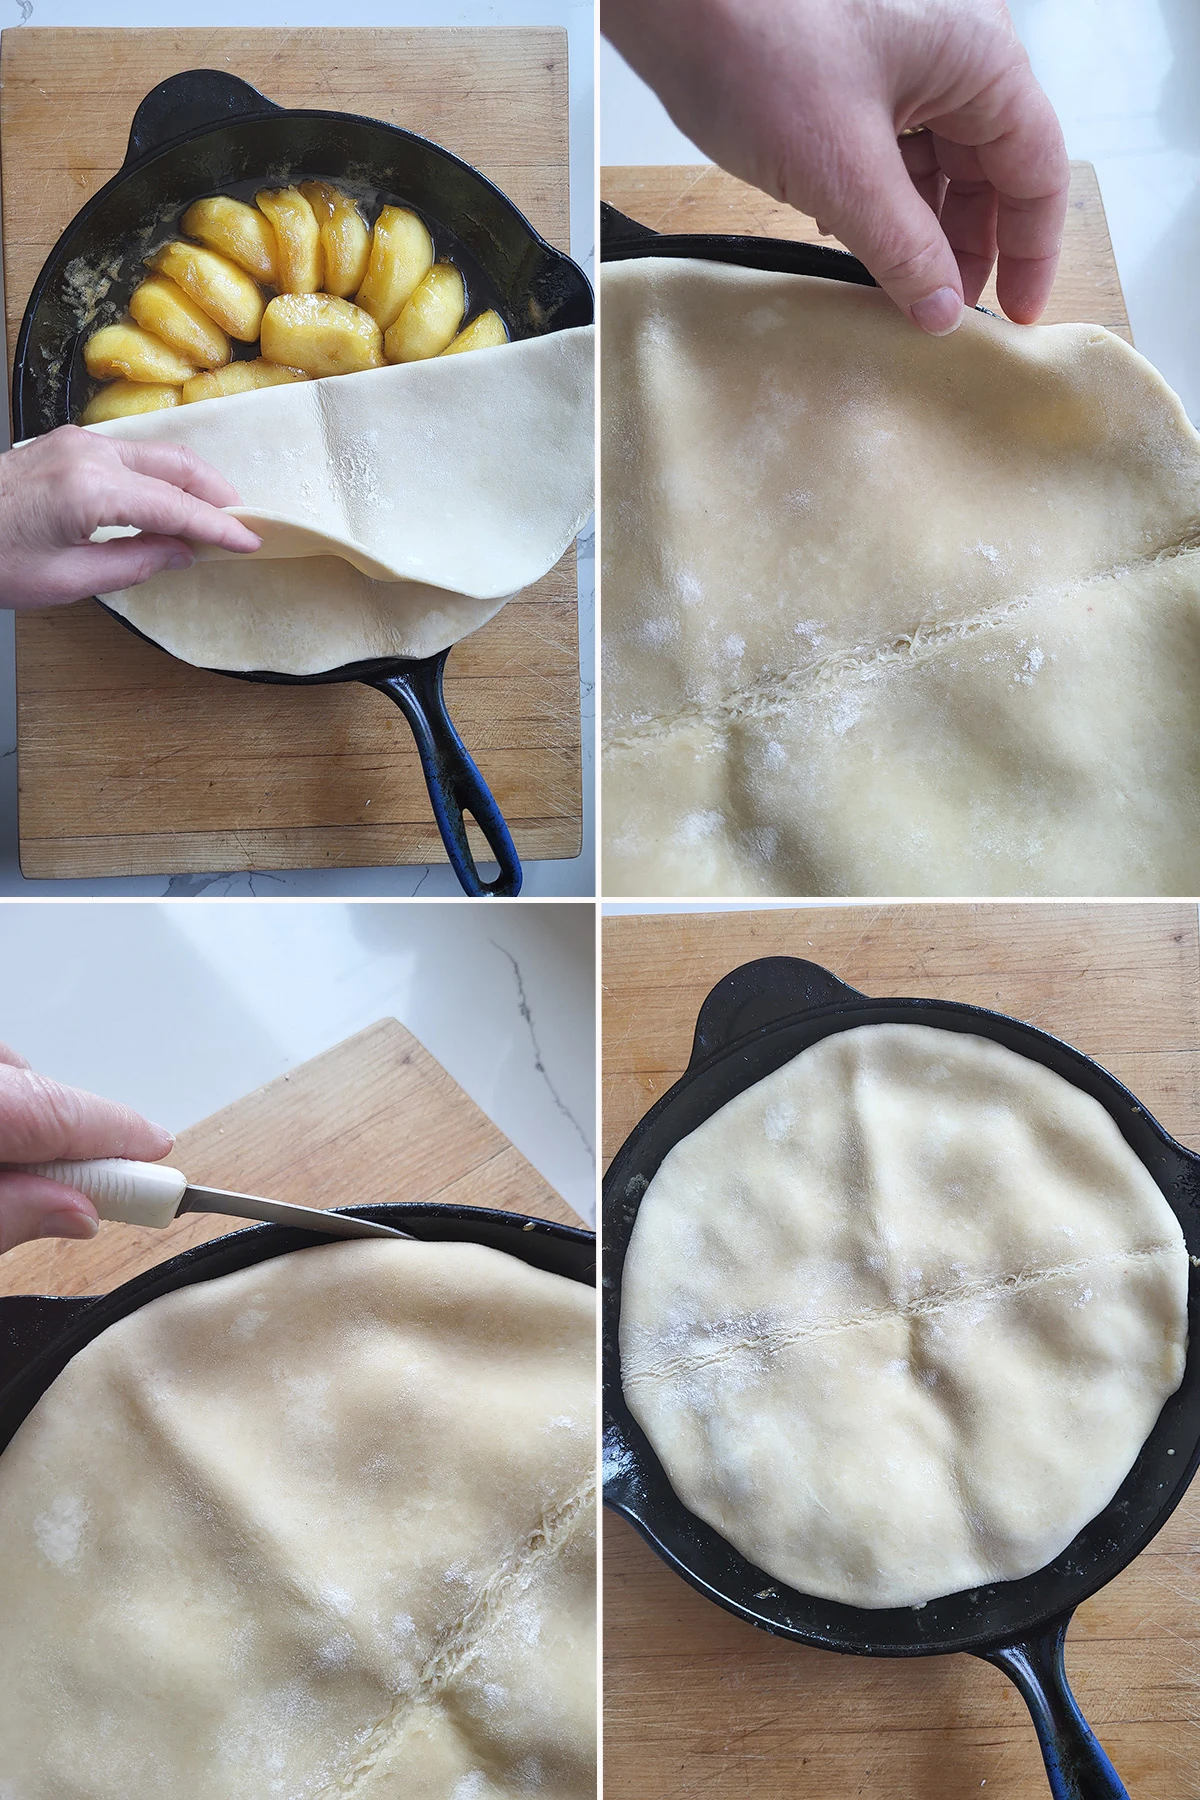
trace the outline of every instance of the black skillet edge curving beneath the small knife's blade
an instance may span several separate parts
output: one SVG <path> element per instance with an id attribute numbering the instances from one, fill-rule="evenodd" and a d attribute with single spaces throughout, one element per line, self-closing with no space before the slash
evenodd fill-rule
<path id="1" fill-rule="evenodd" d="M 342 1206 L 338 1211 L 398 1226 L 425 1242 L 486 1244 L 520 1256 L 533 1269 L 596 1285 L 596 1237 L 574 1226 L 482 1206 Z M 176 1287 L 191 1287 L 193 1282 L 212 1282 L 255 1262 L 270 1262 L 272 1256 L 286 1256 L 293 1249 L 329 1242 L 318 1231 L 250 1226 L 196 1244 L 157 1269 L 135 1274 L 112 1294 L 70 1300 L 14 1294 L 0 1300 L 0 1451 L 72 1355 L 148 1300 L 171 1294 Z"/>

